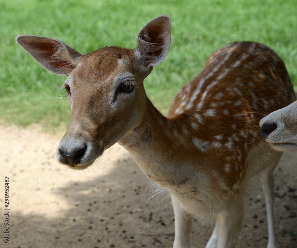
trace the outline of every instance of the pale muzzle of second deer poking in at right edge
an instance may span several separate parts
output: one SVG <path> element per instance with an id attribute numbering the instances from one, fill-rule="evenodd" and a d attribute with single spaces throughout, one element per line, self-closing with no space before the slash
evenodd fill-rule
<path id="1" fill-rule="evenodd" d="M 282 91 L 287 90 L 282 88 Z M 297 101 L 278 109 L 259 123 L 260 135 L 277 151 L 297 150 Z"/>

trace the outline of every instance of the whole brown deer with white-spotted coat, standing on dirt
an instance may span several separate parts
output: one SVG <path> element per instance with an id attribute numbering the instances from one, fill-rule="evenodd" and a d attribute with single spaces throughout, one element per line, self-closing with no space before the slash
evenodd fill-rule
<path id="1" fill-rule="evenodd" d="M 249 178 L 261 176 L 266 203 L 274 197 L 272 173 L 282 153 L 254 169 L 271 151 L 258 125 L 271 109 L 294 101 L 291 84 L 270 104 L 290 77 L 266 45 L 231 43 L 215 51 L 181 88 L 165 117 L 147 97 L 143 80 L 167 56 L 170 39 L 171 19 L 160 15 L 140 30 L 134 49 L 106 46 L 80 54 L 48 37 L 20 35 L 16 42 L 46 70 L 67 76 L 61 89 L 67 92 L 71 122 L 56 150 L 59 163 L 86 169 L 118 142 L 148 178 L 168 190 L 174 248 L 190 246 L 197 216 L 215 225 L 206 248 L 234 247 Z M 273 209 L 266 205 L 266 211 L 267 247 L 272 248 Z"/>

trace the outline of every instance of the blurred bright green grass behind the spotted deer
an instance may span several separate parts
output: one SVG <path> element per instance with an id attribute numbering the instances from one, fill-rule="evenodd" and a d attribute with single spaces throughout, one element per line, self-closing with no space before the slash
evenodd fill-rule
<path id="1" fill-rule="evenodd" d="M 136 35 L 147 22 L 169 15 L 168 56 L 145 80 L 147 95 L 166 114 L 208 56 L 233 41 L 274 48 L 296 87 L 296 7 L 296 0 L 0 0 L 0 124 L 66 128 L 71 120 L 69 103 L 61 101 L 66 93 L 59 90 L 65 78 L 46 71 L 22 50 L 14 39 L 19 34 L 59 39 L 84 54 L 106 45 L 135 48 Z"/>

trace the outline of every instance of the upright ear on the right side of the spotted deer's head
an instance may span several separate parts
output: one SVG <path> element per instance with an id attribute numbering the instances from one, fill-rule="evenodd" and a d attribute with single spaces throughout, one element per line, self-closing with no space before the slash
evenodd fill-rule
<path id="1" fill-rule="evenodd" d="M 159 65 L 168 53 L 170 38 L 171 20 L 167 15 L 160 15 L 138 33 L 135 55 L 148 69 Z"/>

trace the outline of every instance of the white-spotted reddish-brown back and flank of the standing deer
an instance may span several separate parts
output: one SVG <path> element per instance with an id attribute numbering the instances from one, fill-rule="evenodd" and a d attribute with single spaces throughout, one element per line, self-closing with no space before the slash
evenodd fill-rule
<path id="1" fill-rule="evenodd" d="M 236 183 L 234 173 L 244 178 L 249 152 L 261 141 L 260 119 L 294 98 L 285 65 L 272 49 L 237 42 L 209 57 L 203 71 L 178 92 L 168 118 L 183 123 L 197 163 L 214 174 L 224 170 L 229 189 Z"/>

